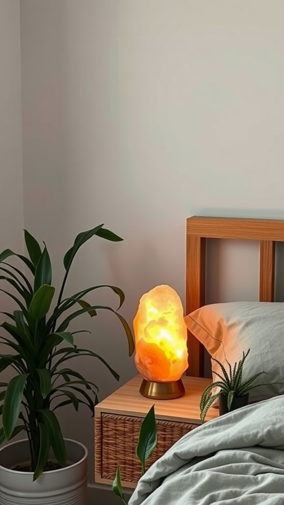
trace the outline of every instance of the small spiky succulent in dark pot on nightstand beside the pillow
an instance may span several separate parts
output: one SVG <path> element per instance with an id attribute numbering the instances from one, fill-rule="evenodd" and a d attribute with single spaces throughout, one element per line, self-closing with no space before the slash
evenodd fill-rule
<path id="1" fill-rule="evenodd" d="M 245 360 L 250 352 L 250 349 L 247 350 L 246 354 L 243 351 L 243 357 L 239 362 L 235 362 L 233 366 L 228 363 L 228 372 L 225 367 L 215 358 L 212 358 L 216 363 L 218 363 L 221 373 L 213 372 L 218 376 L 218 380 L 212 382 L 207 386 L 207 388 L 203 391 L 201 400 L 200 400 L 200 418 L 201 421 L 204 422 L 205 416 L 214 403 L 214 401 L 219 398 L 219 413 L 220 415 L 226 414 L 232 410 L 238 409 L 240 407 L 244 407 L 249 402 L 249 391 L 257 386 L 264 386 L 267 384 L 276 384 L 276 382 L 261 382 L 255 383 L 257 377 L 266 372 L 259 372 L 255 374 L 253 377 L 250 377 L 246 382 L 242 382 L 243 377 L 243 367 Z M 218 387 L 219 391 L 215 394 L 212 394 L 212 389 Z"/>

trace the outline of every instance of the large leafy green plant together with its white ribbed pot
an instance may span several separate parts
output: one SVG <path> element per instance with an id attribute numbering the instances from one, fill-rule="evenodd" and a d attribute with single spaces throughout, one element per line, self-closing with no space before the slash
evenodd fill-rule
<path id="1" fill-rule="evenodd" d="M 110 311 L 123 325 L 129 356 L 134 349 L 131 330 L 121 314 L 108 306 L 90 305 L 84 299 L 88 293 L 107 287 L 118 295 L 120 308 L 124 301 L 120 288 L 92 286 L 64 297 L 77 251 L 94 235 L 111 241 L 122 240 L 104 225 L 79 233 L 64 256 L 65 274 L 57 296 L 52 285 L 48 249 L 45 244 L 40 247 L 28 231 L 24 231 L 26 256 L 11 249 L 0 254 L 0 280 L 10 287 L 10 290 L 4 287 L 1 291 L 17 306 L 14 312 L 2 312 L 7 321 L 1 325 L 6 335 L 0 337 L 0 342 L 8 347 L 10 354 L 0 355 L 0 372 L 11 367 L 14 376 L 8 383 L 0 383 L 3 425 L 0 443 L 10 441 L 22 431 L 26 435 L 25 440 L 0 450 L 0 502 L 3 505 L 50 504 L 53 495 L 54 503 L 85 505 L 87 451 L 82 444 L 64 440 L 56 412 L 68 404 L 78 411 L 79 405 L 84 404 L 93 415 L 98 387 L 69 368 L 66 362 L 77 356 L 90 356 L 103 362 L 117 380 L 119 376 L 96 352 L 75 344 L 75 334 L 80 332 L 72 331 L 69 326 L 82 314 L 93 317 L 101 309 Z M 13 256 L 23 262 L 28 273 L 7 261 Z M 77 310 L 76 305 L 79 305 Z M 20 466 L 12 470 L 15 465 Z"/>

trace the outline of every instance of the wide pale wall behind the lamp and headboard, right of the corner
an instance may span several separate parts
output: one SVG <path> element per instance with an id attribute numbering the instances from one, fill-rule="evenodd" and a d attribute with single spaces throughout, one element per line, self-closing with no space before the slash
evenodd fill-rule
<path id="1" fill-rule="evenodd" d="M 24 221 L 48 243 L 56 281 L 75 234 L 105 222 L 125 241 L 93 239 L 69 289 L 117 284 L 131 320 L 140 295 L 156 284 L 184 299 L 186 217 L 284 216 L 282 0 L 20 6 Z M 256 294 L 256 248 L 246 261 L 239 248 L 241 262 L 230 244 L 223 249 L 225 271 L 236 268 L 221 298 L 231 284 L 242 289 L 240 263 L 243 296 Z M 100 351 L 122 382 L 135 373 L 114 318 L 81 326 L 93 330 L 83 344 Z M 101 397 L 117 387 L 97 363 L 79 366 Z M 62 413 L 65 434 L 92 450 L 88 413 L 72 414 L 72 423 L 70 415 Z"/>

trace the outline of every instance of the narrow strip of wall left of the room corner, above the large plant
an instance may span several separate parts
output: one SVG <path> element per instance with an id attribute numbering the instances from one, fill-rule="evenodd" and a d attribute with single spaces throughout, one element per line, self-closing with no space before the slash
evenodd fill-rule
<path id="1" fill-rule="evenodd" d="M 0 62 L 0 251 L 10 247 L 22 252 L 19 0 L 0 0 Z M 1 302 L 2 298 L 0 295 Z"/>

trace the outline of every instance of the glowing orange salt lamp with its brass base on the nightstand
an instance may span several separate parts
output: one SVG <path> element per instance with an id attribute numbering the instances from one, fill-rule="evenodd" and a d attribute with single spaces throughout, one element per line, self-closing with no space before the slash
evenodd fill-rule
<path id="1" fill-rule="evenodd" d="M 139 301 L 133 320 L 135 365 L 144 380 L 140 393 L 149 398 L 178 398 L 184 394 L 181 375 L 187 368 L 187 331 L 178 294 L 156 286 Z"/>

